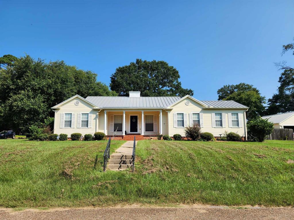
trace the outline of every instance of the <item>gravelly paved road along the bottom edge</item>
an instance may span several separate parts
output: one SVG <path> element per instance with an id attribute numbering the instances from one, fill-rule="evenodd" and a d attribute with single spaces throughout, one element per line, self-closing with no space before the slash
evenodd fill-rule
<path id="1" fill-rule="evenodd" d="M 108 219 L 294 219 L 294 208 L 220 209 L 220 208 L 85 208 L 53 209 L 49 211 L 12 212 L 0 209 L 0 219 L 7 220 L 108 220 Z"/>

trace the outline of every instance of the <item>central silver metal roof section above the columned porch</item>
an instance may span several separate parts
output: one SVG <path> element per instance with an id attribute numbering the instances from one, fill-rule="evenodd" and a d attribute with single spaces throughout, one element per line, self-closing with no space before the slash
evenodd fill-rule
<path id="1" fill-rule="evenodd" d="M 166 108 L 181 97 L 88 96 L 87 101 L 100 108 Z"/>

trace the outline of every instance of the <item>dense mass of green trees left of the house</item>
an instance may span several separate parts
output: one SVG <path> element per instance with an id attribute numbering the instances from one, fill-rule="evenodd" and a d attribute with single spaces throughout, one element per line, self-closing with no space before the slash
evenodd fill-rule
<path id="1" fill-rule="evenodd" d="M 41 126 L 48 116 L 54 116 L 50 107 L 75 94 L 116 95 L 96 77 L 64 61 L 45 63 L 29 55 L 20 57 L 0 70 L 0 130 L 28 132 L 31 125 Z"/>

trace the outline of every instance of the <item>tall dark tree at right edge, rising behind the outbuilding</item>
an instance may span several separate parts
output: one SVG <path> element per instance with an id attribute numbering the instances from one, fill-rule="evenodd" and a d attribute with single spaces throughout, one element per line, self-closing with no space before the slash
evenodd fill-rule
<path id="1" fill-rule="evenodd" d="M 283 45 L 282 55 L 288 50 L 293 50 L 294 43 Z M 286 62 L 282 61 L 276 63 L 279 70 L 284 70 L 279 77 L 280 86 L 278 93 L 274 94 L 272 98 L 268 99 L 268 108 L 266 113 L 277 114 L 280 112 L 294 111 L 294 69 L 293 67 L 286 66 Z"/>

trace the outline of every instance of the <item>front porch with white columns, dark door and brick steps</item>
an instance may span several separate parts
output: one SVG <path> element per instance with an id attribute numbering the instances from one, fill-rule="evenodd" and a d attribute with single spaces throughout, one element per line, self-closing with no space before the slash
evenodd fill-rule
<path id="1" fill-rule="evenodd" d="M 104 110 L 104 133 L 106 136 L 127 135 L 128 139 L 134 135 L 157 136 L 162 134 L 162 111 Z"/>

